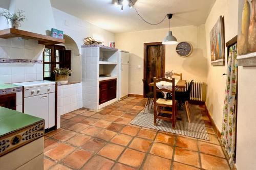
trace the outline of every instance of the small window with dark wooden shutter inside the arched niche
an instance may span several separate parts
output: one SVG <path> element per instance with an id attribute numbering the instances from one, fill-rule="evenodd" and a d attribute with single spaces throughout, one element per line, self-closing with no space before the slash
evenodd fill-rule
<path id="1" fill-rule="evenodd" d="M 52 70 L 56 68 L 71 69 L 71 51 L 61 45 L 46 45 L 43 52 L 44 80 L 55 80 Z"/>

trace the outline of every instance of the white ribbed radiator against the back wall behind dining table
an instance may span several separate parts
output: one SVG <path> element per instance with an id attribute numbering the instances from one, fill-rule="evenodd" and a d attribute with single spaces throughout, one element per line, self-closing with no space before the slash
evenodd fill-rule
<path id="1" fill-rule="evenodd" d="M 190 81 L 186 82 L 186 88 L 183 88 L 182 91 L 188 89 Z M 205 102 L 206 99 L 206 84 L 202 81 L 193 81 L 190 93 L 190 100 Z"/>

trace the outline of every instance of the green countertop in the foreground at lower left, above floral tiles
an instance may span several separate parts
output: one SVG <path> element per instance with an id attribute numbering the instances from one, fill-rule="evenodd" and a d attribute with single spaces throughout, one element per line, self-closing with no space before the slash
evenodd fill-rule
<path id="1" fill-rule="evenodd" d="M 41 120 L 35 116 L 0 107 L 0 137 Z"/>

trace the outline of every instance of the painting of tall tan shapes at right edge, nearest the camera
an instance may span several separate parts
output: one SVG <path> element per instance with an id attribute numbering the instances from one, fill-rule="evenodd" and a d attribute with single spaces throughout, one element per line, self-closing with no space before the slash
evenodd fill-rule
<path id="1" fill-rule="evenodd" d="M 256 65 L 256 0 L 239 0 L 238 65 Z"/>

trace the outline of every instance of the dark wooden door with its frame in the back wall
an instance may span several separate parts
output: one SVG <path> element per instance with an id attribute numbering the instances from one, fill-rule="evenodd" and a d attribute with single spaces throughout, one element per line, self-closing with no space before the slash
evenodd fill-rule
<path id="1" fill-rule="evenodd" d="M 143 79 L 146 86 L 143 89 L 143 95 L 147 92 L 153 91 L 148 86 L 153 82 L 153 78 L 157 79 L 164 77 L 165 72 L 165 45 L 162 42 L 144 43 L 144 73 Z"/>

